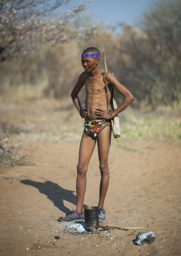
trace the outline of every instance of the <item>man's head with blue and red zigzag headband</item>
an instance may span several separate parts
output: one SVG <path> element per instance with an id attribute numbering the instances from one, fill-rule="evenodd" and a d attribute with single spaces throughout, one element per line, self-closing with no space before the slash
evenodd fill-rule
<path id="1" fill-rule="evenodd" d="M 95 47 L 89 47 L 82 53 L 82 66 L 87 72 L 93 71 L 99 62 L 100 52 Z"/>

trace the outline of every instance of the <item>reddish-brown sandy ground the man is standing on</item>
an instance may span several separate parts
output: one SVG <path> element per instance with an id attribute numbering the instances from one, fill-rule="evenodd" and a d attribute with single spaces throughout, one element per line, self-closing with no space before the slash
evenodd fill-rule
<path id="1" fill-rule="evenodd" d="M 67 223 L 57 222 L 59 216 L 75 209 L 79 142 L 28 142 L 27 150 L 38 147 L 33 153 L 38 165 L 0 173 L 16 176 L 0 180 L 0 255 L 181 255 L 181 144 L 156 140 L 123 144 L 138 151 L 111 145 L 106 220 L 101 224 L 149 227 L 75 234 Z M 98 166 L 95 148 L 87 174 L 85 206 L 98 203 Z M 155 242 L 134 245 L 132 240 L 141 230 L 153 231 Z M 57 235 L 60 240 L 55 239 Z"/>

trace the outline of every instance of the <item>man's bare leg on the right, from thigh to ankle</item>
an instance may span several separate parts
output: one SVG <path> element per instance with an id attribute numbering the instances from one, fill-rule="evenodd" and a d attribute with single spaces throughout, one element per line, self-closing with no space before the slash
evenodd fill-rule
<path id="1" fill-rule="evenodd" d="M 109 186 L 108 155 L 111 142 L 111 128 L 105 127 L 97 135 L 99 169 L 101 173 L 98 208 L 104 209 L 104 200 Z"/>

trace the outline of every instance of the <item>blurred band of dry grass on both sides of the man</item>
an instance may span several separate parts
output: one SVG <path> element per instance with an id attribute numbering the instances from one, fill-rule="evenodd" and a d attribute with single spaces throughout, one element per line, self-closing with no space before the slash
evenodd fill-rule
<path id="1" fill-rule="evenodd" d="M 12 88 L 0 96 L 0 130 L 12 143 L 24 140 L 77 141 L 83 120 L 71 97 L 43 98 L 46 81 L 37 86 Z M 84 98 L 84 92 L 81 96 Z M 84 103 L 82 103 L 83 105 Z M 181 108 L 157 107 L 156 111 L 125 109 L 119 114 L 121 139 L 181 140 Z M 113 140 L 114 141 L 114 140 Z"/>

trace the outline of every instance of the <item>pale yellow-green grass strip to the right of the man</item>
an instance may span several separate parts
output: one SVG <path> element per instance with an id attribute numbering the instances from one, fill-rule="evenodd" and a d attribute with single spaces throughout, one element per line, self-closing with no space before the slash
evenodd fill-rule
<path id="1" fill-rule="evenodd" d="M 123 112 L 123 121 L 120 115 L 120 123 L 122 139 L 181 140 L 180 109 L 162 108 L 160 111 L 158 108 L 154 112 L 128 109 Z"/>

